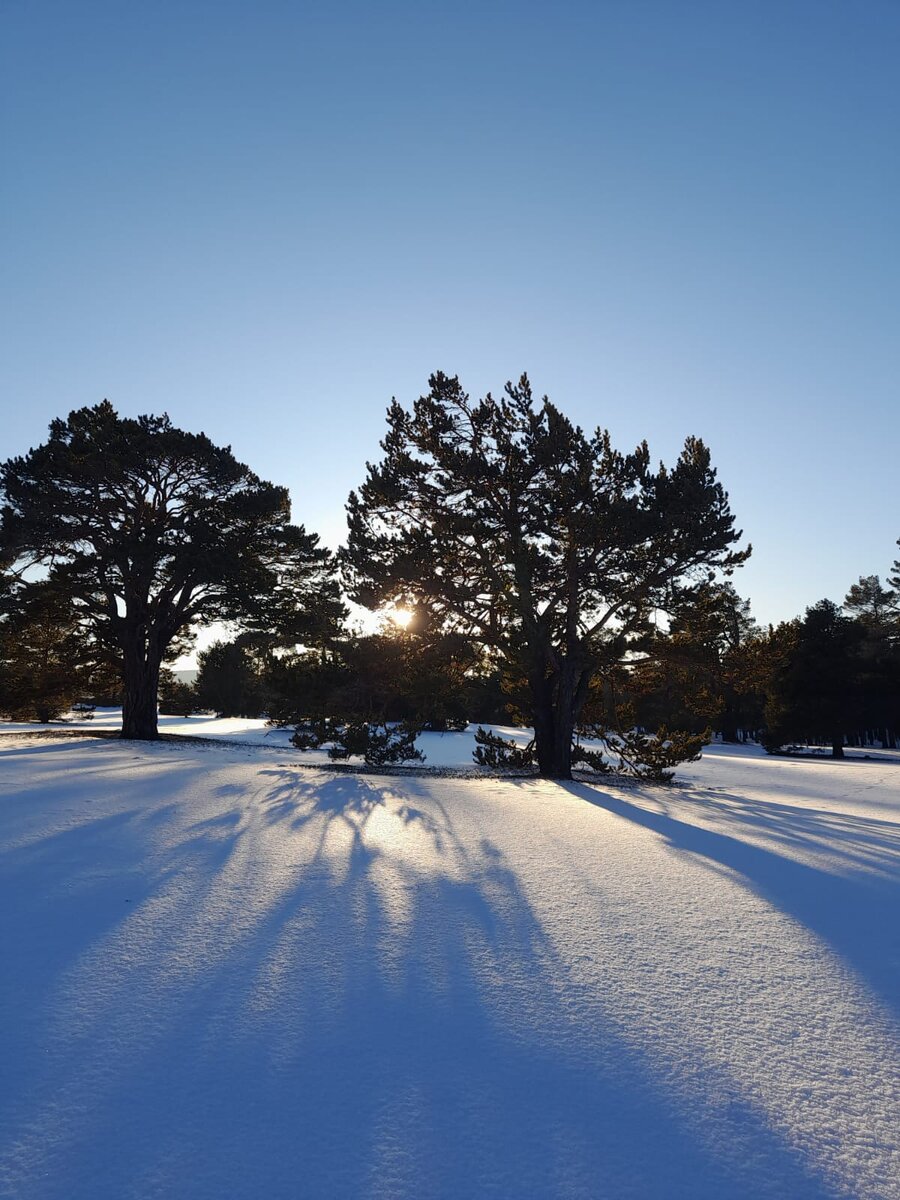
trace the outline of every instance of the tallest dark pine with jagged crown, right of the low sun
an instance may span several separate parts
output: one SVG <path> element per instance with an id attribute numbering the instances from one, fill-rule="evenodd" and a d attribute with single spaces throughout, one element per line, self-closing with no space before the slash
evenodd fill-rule
<path id="1" fill-rule="evenodd" d="M 696 438 L 654 470 L 646 443 L 586 437 L 524 376 L 476 402 L 456 378 L 430 384 L 412 413 L 391 404 L 384 460 L 350 494 L 350 595 L 421 605 L 499 654 L 528 682 L 540 773 L 568 779 L 595 672 L 749 550 Z"/>

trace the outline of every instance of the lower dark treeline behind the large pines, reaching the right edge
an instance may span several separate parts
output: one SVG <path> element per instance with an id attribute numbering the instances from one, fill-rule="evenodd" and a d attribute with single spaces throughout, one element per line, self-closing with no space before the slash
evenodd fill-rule
<path id="1" fill-rule="evenodd" d="M 900 737 L 900 593 L 860 577 L 842 606 L 822 600 L 803 617 L 761 628 L 730 584 L 704 584 L 667 629 L 595 676 L 580 731 L 611 720 L 660 726 L 769 750 L 828 745 L 896 748 Z M 326 718 L 408 721 L 428 730 L 530 725 L 527 682 L 462 637 L 415 618 L 385 622 L 328 650 L 272 653 L 253 637 L 199 654 L 193 686 L 166 680 L 166 710 L 212 710 L 284 725 Z M 167 707 L 168 706 L 168 707 Z M 618 716 L 616 715 L 618 714 Z"/>

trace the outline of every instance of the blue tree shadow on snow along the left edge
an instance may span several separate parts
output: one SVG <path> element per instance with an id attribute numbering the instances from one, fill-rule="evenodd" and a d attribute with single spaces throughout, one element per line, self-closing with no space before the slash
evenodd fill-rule
<path id="1" fill-rule="evenodd" d="M 59 1019 L 60 988 L 68 973 L 108 946 L 174 877 L 188 870 L 203 877 L 221 865 L 223 852 L 230 852 L 230 846 L 223 847 L 221 839 L 200 829 L 175 852 L 157 850 L 154 854 L 155 832 L 178 812 L 176 805 L 164 799 L 161 803 L 161 781 L 164 785 L 168 768 L 174 766 L 184 786 L 204 774 L 200 767 L 150 760 L 146 775 L 124 784 L 128 809 L 109 812 L 108 799 L 95 806 L 97 776 L 120 770 L 125 761 L 136 757 L 133 748 L 121 743 L 113 744 L 107 757 L 103 745 L 104 757 L 92 756 L 88 764 L 83 762 L 83 743 L 35 743 L 20 751 L 4 751 L 43 756 L 48 750 L 74 746 L 82 750 L 82 758 L 66 776 L 62 806 L 49 805 L 49 820 L 56 828 L 37 832 L 35 821 L 47 820 L 47 815 L 36 816 L 28 790 L 7 797 L 2 811 L 0 1151 L 22 1103 L 23 1086 L 43 1086 L 42 1078 L 55 1069 L 55 1060 L 46 1055 L 46 1039 Z M 34 787 L 42 788 L 40 780 Z M 1 845 L 4 841 L 12 845 Z"/>

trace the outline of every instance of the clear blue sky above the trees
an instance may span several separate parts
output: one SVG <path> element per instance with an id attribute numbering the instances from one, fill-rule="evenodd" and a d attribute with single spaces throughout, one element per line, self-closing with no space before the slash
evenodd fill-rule
<path id="1" fill-rule="evenodd" d="M 109 397 L 331 545 L 384 410 L 702 436 L 775 620 L 900 536 L 900 4 L 0 4 L 0 456 Z"/>

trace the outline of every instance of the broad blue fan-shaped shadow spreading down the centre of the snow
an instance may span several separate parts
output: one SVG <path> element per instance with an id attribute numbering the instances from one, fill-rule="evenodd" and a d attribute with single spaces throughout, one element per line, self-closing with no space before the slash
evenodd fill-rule
<path id="1" fill-rule="evenodd" d="M 739 1102 L 734 1145 L 710 1146 L 602 1020 L 569 1015 L 565 966 L 475 818 L 412 780 L 401 798 L 260 775 L 277 850 L 234 812 L 186 832 L 172 863 L 199 839 L 212 877 L 170 892 L 152 954 L 100 989 L 90 1044 L 28 1114 L 29 1196 L 839 1194 Z"/>

